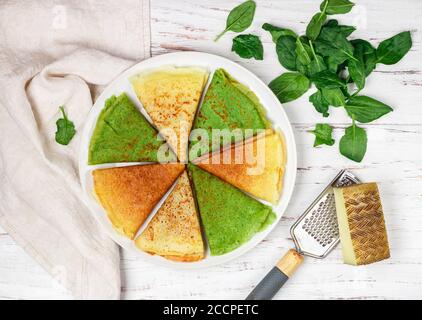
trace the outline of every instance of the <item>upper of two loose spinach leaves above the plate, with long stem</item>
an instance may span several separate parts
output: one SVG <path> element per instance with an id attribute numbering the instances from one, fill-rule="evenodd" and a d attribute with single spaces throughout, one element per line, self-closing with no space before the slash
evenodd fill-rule
<path id="1" fill-rule="evenodd" d="M 232 11 L 226 21 L 226 28 L 215 38 L 218 41 L 227 31 L 242 32 L 252 24 L 255 15 L 255 1 L 248 0 L 238 5 Z"/>

